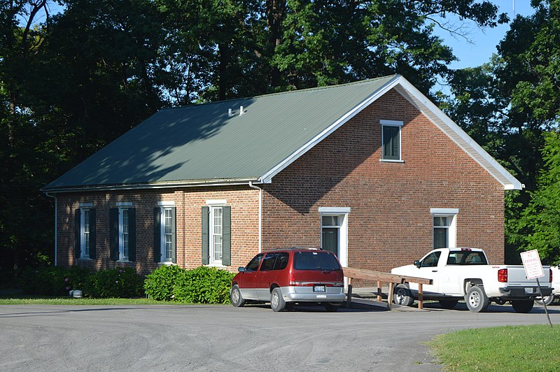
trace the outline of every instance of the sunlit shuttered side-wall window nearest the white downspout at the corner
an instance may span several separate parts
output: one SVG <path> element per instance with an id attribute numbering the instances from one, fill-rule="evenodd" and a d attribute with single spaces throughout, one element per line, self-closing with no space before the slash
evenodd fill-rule
<path id="1" fill-rule="evenodd" d="M 231 207 L 209 200 L 202 207 L 202 264 L 231 265 Z"/>

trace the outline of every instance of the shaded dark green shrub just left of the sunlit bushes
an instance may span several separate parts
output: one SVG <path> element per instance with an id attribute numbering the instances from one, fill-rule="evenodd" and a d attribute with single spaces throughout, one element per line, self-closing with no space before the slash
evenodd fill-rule
<path id="1" fill-rule="evenodd" d="M 130 267 L 106 269 L 92 273 L 85 293 L 102 299 L 138 297 L 142 296 L 143 282 Z"/>

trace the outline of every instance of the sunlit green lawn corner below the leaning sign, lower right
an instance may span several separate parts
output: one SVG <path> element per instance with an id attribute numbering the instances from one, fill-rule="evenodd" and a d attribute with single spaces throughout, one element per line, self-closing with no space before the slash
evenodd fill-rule
<path id="1" fill-rule="evenodd" d="M 428 345 L 445 371 L 560 371 L 560 326 L 465 329 Z"/>

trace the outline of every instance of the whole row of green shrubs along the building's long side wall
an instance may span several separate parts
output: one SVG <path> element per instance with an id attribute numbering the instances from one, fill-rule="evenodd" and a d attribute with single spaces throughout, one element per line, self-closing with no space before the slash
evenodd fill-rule
<path id="1" fill-rule="evenodd" d="M 179 266 L 160 266 L 146 279 L 134 269 L 117 268 L 90 271 L 83 267 L 45 266 L 27 269 L 20 285 L 26 294 L 68 295 L 81 289 L 93 298 L 131 298 L 145 296 L 159 301 L 182 303 L 229 303 L 234 274 L 201 266 L 186 270 Z"/>

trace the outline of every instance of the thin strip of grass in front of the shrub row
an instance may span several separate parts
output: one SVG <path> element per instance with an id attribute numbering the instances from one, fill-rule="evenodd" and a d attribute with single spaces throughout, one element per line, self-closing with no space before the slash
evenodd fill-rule
<path id="1" fill-rule="evenodd" d="M 180 303 L 153 299 L 72 299 L 59 296 L 0 297 L 0 305 L 179 305 Z"/>

